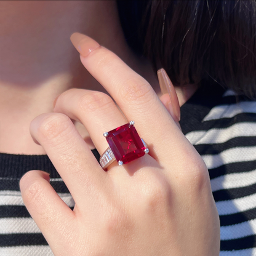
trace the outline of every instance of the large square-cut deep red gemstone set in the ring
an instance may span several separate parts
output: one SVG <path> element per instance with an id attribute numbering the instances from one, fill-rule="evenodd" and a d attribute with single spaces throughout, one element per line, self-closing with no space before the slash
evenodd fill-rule
<path id="1" fill-rule="evenodd" d="M 110 146 L 116 161 L 124 164 L 131 162 L 145 154 L 145 146 L 138 136 L 137 130 L 130 124 L 124 124 L 108 132 L 106 141 Z"/>

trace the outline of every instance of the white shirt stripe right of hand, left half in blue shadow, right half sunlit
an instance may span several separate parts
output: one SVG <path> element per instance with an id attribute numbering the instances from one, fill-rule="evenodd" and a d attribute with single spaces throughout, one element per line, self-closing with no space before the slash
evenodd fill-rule
<path id="1" fill-rule="evenodd" d="M 256 194 L 233 200 L 216 202 L 218 215 L 236 214 L 256 208 Z"/>

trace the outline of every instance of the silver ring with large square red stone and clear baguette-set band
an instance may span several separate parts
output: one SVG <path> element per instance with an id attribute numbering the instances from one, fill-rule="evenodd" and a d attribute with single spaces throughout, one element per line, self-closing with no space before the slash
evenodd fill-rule
<path id="1" fill-rule="evenodd" d="M 138 135 L 134 121 L 110 130 L 110 132 L 104 132 L 103 136 L 108 142 L 108 148 L 100 157 L 100 165 L 103 169 L 115 160 L 118 161 L 119 166 L 122 166 L 150 151 L 143 138 Z"/>

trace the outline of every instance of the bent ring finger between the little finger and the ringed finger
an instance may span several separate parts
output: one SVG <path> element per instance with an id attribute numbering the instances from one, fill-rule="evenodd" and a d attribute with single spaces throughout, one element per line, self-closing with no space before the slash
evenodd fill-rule
<path id="1" fill-rule="evenodd" d="M 76 204 L 90 201 L 90 195 L 105 188 L 107 175 L 65 114 L 39 115 L 31 122 L 30 132 L 46 151 Z"/>

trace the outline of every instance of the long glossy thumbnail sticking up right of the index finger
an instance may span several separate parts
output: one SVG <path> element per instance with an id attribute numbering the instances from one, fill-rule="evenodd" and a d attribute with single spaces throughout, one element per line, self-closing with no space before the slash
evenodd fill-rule
<path id="1" fill-rule="evenodd" d="M 180 104 L 178 103 L 178 97 L 174 85 L 163 68 L 158 70 L 158 81 L 162 94 L 169 94 L 174 114 L 177 116 L 178 121 L 180 121 Z"/>

